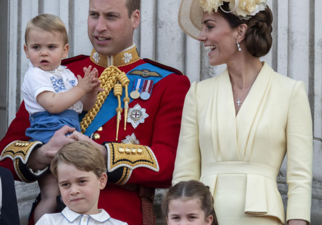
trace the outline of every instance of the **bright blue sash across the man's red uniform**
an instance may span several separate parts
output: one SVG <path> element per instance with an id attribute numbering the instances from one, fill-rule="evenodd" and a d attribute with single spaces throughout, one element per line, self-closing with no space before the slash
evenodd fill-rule
<path id="1" fill-rule="evenodd" d="M 133 83 L 134 83 L 135 79 L 140 78 L 140 79 L 144 80 L 144 78 L 142 78 L 139 75 L 132 75 L 132 74 L 128 75 L 128 74 L 130 74 L 134 70 L 142 70 L 142 69 L 146 69 L 151 72 L 156 72 L 162 76 L 162 77 L 147 77 L 147 78 L 145 78 L 145 79 L 153 80 L 153 84 L 157 83 L 162 78 L 165 78 L 169 74 L 173 73 L 171 71 L 159 68 L 159 67 L 154 66 L 149 63 L 144 63 L 141 65 L 138 65 L 137 67 L 130 70 L 126 74 L 130 80 L 130 83 L 128 85 L 128 93 L 130 93 L 132 91 L 132 87 L 133 87 Z M 124 88 L 123 88 L 122 96 L 123 97 L 125 96 L 125 89 Z M 123 99 L 123 97 L 121 97 L 121 99 Z M 133 101 L 133 99 L 130 97 L 130 102 L 132 102 L 132 101 Z M 123 100 L 121 100 L 121 102 L 122 102 L 122 108 L 124 108 Z M 87 136 L 91 136 L 95 131 L 97 131 L 100 127 L 102 127 L 105 123 L 107 123 L 110 119 L 112 119 L 116 115 L 115 109 L 117 107 L 117 104 L 118 104 L 117 98 L 114 96 L 113 90 L 111 90 L 109 95 L 106 97 L 104 104 L 102 105 L 100 111 L 98 112 L 98 114 L 96 115 L 96 117 L 94 118 L 92 123 L 89 125 L 89 127 L 86 129 L 86 132 L 84 134 Z M 124 120 L 124 118 L 122 118 L 122 119 Z"/>

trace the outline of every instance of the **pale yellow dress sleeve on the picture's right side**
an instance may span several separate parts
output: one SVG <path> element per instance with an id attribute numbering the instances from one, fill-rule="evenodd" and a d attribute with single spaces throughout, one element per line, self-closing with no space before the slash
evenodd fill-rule
<path id="1" fill-rule="evenodd" d="M 312 120 L 304 83 L 294 85 L 287 118 L 287 220 L 310 221 Z"/>

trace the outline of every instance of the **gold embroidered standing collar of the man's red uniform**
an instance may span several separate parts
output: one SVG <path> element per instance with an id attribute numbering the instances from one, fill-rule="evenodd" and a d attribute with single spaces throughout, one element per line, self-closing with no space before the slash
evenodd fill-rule
<path id="1" fill-rule="evenodd" d="M 94 48 L 91 53 L 92 62 L 102 67 L 109 67 L 111 65 L 116 67 L 126 66 L 138 61 L 139 59 L 140 56 L 136 50 L 135 44 L 115 55 L 101 55 L 96 52 Z"/>

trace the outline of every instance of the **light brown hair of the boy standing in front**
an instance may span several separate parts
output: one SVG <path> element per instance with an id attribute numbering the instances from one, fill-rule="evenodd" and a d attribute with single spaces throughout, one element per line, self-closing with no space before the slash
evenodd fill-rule
<path id="1" fill-rule="evenodd" d="M 85 141 L 70 142 L 58 151 L 50 164 L 50 171 L 56 178 L 60 162 L 86 172 L 92 171 L 97 177 L 106 172 L 105 160 L 100 150 Z"/>

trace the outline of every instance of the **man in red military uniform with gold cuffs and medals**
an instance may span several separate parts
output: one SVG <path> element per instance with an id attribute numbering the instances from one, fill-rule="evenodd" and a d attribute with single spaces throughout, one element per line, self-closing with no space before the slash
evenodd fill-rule
<path id="1" fill-rule="evenodd" d="M 9 168 L 17 180 L 33 182 L 47 171 L 64 144 L 91 138 L 107 161 L 108 184 L 101 191 L 99 208 L 129 225 L 155 223 L 154 188 L 171 184 L 190 86 L 180 71 L 140 59 L 133 44 L 139 8 L 139 0 L 90 0 L 91 56 L 63 61 L 74 74 L 83 74 L 83 67 L 89 65 L 102 73 L 105 91 L 81 122 L 87 136 L 65 126 L 47 144 L 28 142 L 29 115 L 23 102 L 0 142 L 0 166 Z M 72 133 L 69 138 L 67 133 Z"/>

